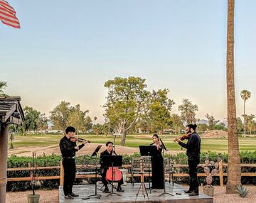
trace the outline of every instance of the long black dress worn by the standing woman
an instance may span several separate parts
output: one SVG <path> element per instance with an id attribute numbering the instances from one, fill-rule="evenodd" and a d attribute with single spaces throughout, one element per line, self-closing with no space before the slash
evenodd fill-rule
<path id="1" fill-rule="evenodd" d="M 164 189 L 164 159 L 161 155 L 161 150 L 162 148 L 159 148 L 157 154 L 151 157 L 153 189 Z"/>

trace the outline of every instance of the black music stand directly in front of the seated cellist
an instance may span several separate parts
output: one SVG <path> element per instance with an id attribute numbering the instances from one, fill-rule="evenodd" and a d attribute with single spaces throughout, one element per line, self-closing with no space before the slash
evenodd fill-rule
<path id="1" fill-rule="evenodd" d="M 121 167 L 122 166 L 122 155 L 103 155 L 102 157 L 102 161 L 103 161 L 103 165 L 107 166 L 107 167 L 111 167 L 112 168 L 112 189 L 110 194 L 107 194 L 106 197 L 112 195 L 112 194 L 117 194 L 115 192 L 113 192 L 113 187 L 114 187 L 114 167 Z M 117 194 L 118 196 L 121 196 L 120 194 Z"/>

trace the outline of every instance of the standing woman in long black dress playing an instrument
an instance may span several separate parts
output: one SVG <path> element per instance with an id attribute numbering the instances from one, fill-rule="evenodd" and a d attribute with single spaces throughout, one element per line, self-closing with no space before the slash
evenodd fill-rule
<path id="1" fill-rule="evenodd" d="M 153 143 L 151 146 L 156 146 L 157 154 L 151 157 L 152 165 L 152 188 L 163 189 L 164 188 L 164 160 L 161 155 L 163 146 L 157 134 L 152 137 Z"/>

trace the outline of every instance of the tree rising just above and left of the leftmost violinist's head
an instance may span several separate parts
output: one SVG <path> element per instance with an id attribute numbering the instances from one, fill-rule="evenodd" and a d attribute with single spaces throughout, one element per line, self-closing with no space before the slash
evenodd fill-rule
<path id="1" fill-rule="evenodd" d="M 68 127 L 68 119 L 70 117 L 72 107 L 70 103 L 61 101 L 58 106 L 55 106 L 53 111 L 50 111 L 50 121 L 52 121 L 55 129 L 61 129 L 65 135 L 65 128 Z"/>

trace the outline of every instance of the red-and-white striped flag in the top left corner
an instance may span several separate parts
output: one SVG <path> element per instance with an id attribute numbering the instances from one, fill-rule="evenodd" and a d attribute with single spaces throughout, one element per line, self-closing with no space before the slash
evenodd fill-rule
<path id="1" fill-rule="evenodd" d="M 4 0 L 0 0 L 0 20 L 7 26 L 21 28 L 18 18 L 16 17 L 16 11 Z"/>

